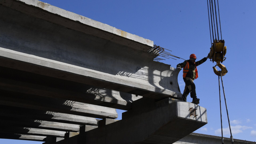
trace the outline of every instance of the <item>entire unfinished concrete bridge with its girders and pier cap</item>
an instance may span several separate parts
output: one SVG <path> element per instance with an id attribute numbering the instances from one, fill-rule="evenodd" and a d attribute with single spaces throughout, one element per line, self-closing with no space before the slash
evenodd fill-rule
<path id="1" fill-rule="evenodd" d="M 153 41 L 37 0 L 0 13 L 0 138 L 163 144 L 207 124 Z"/>

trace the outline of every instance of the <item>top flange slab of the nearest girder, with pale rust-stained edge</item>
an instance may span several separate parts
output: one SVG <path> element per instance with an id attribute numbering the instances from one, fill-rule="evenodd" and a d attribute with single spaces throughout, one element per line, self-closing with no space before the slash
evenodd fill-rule
<path id="1" fill-rule="evenodd" d="M 73 12 L 68 12 L 38 0 L 1 0 L 0 4 L 16 9 L 27 15 L 47 20 L 51 23 L 89 35 L 101 37 L 134 49 L 147 51 L 154 45 L 151 40 L 127 33 L 99 21 L 86 18 Z"/>

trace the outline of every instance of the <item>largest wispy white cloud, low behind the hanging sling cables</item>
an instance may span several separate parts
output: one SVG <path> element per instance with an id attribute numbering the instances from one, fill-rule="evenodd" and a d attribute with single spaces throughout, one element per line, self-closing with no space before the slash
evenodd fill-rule
<path id="1" fill-rule="evenodd" d="M 246 129 L 252 129 L 252 127 L 242 125 L 231 126 L 232 134 L 242 133 L 242 130 Z M 215 130 L 215 134 L 221 134 L 221 129 Z M 223 129 L 223 134 L 230 134 L 229 127 Z"/>

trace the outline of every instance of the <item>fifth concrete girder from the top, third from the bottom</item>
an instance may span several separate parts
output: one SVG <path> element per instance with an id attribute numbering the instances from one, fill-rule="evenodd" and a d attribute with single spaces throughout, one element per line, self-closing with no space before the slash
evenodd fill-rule
<path id="1" fill-rule="evenodd" d="M 42 121 L 37 119 L 13 119 L 12 117 L 1 116 L 0 123 L 19 127 L 31 127 L 46 130 L 64 131 L 64 132 L 79 132 L 80 125 L 65 124 L 57 122 Z"/>

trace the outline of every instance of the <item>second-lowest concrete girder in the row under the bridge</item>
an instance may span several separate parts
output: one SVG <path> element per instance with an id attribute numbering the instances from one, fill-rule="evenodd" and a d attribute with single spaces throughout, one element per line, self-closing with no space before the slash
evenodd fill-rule
<path id="1" fill-rule="evenodd" d="M 44 129 L 35 129 L 29 127 L 16 127 L 10 125 L 0 124 L 1 133 L 19 133 L 19 134 L 28 134 L 36 136 L 52 136 L 52 137 L 64 137 L 66 132 L 62 131 L 53 131 L 53 130 L 44 130 Z"/>

